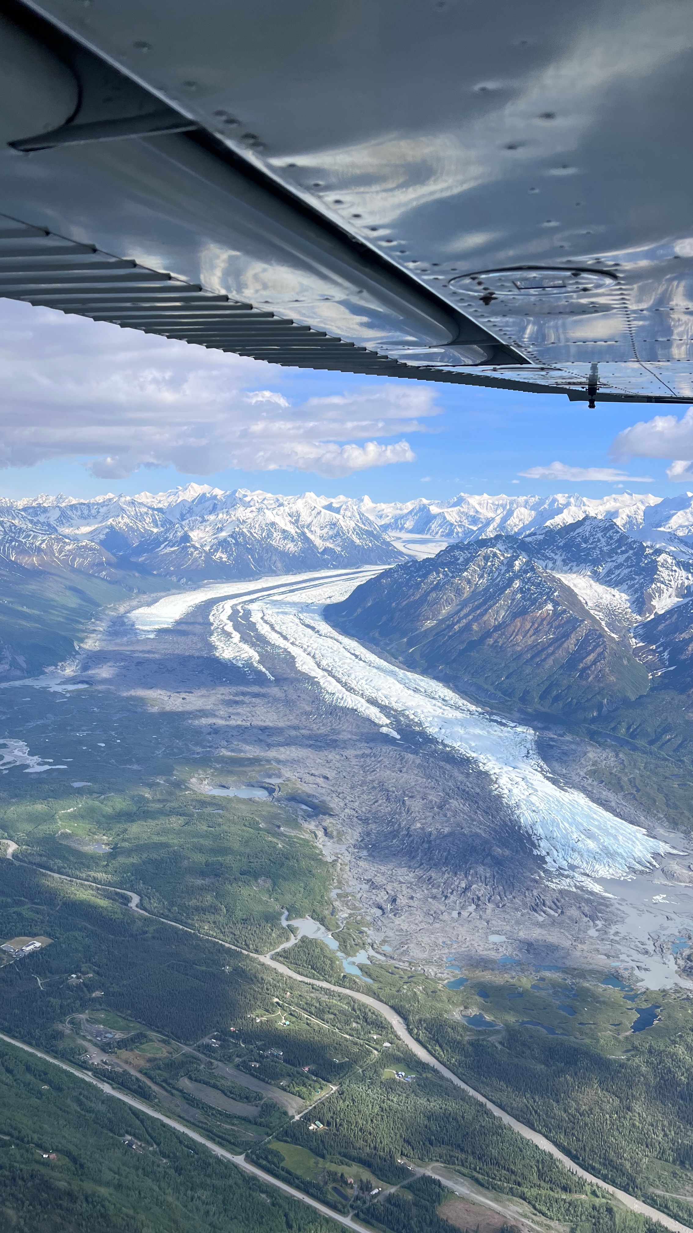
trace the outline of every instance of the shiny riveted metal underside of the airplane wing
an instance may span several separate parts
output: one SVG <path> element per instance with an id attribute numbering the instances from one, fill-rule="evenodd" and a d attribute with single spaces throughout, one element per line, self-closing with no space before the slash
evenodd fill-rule
<path id="1" fill-rule="evenodd" d="M 692 59 L 681 0 L 0 0 L 0 296 L 688 402 Z"/>

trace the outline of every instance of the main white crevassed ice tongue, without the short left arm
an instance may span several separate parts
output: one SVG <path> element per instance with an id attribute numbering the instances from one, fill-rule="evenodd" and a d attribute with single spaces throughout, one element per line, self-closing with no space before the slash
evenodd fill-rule
<path id="1" fill-rule="evenodd" d="M 386 663 L 333 630 L 322 616 L 323 604 L 344 598 L 359 581 L 258 596 L 249 613 L 258 634 L 290 652 L 298 671 L 330 700 L 379 727 L 391 730 L 397 716 L 474 758 L 493 779 L 555 882 L 599 890 L 596 878 L 633 877 L 656 867 L 655 857 L 671 851 L 582 793 L 552 783 L 530 729 L 487 715 L 445 686 Z"/>

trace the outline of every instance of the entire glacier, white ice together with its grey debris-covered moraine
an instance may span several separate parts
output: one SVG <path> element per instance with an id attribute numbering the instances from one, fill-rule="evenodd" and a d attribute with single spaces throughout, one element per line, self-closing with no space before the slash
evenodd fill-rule
<path id="1" fill-rule="evenodd" d="M 136 694 L 186 721 L 197 753 L 271 757 L 324 805 L 301 819 L 333 862 L 338 920 L 365 925 L 374 957 L 429 974 L 619 968 L 640 985 L 686 986 L 686 841 L 559 777 L 529 727 L 332 629 L 323 605 L 372 572 L 219 583 L 133 605 L 53 688 L 79 677 Z"/>

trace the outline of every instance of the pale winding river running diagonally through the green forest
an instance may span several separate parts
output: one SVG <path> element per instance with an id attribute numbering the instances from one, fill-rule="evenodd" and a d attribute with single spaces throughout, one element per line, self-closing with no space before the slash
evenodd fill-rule
<path id="1" fill-rule="evenodd" d="M 284 977 L 289 977 L 291 980 L 298 980 L 301 984 L 306 985 L 314 985 L 318 989 L 329 989 L 332 993 L 339 994 L 342 997 L 353 997 L 355 1001 L 365 1002 L 366 1006 L 371 1006 L 380 1015 L 382 1015 L 383 1018 L 387 1020 L 396 1036 L 398 1036 L 400 1039 L 403 1041 L 403 1043 L 412 1051 L 412 1053 L 416 1054 L 416 1057 L 420 1062 L 425 1063 L 425 1065 L 428 1067 L 432 1067 L 434 1070 L 438 1070 L 438 1073 L 441 1074 L 445 1079 L 449 1079 L 450 1083 L 454 1083 L 456 1088 L 461 1088 L 464 1091 L 466 1091 L 469 1096 L 474 1096 L 474 1099 L 478 1100 L 481 1105 L 485 1105 L 486 1108 L 488 1108 L 494 1117 L 497 1117 L 501 1122 L 504 1122 L 506 1126 L 511 1126 L 512 1129 L 517 1131 L 518 1134 L 522 1134 L 524 1139 L 529 1139 L 530 1143 L 534 1143 L 535 1147 L 541 1148 L 543 1152 L 549 1152 L 550 1155 L 552 1155 L 556 1160 L 560 1160 L 566 1169 L 571 1170 L 571 1173 L 577 1174 L 580 1178 L 582 1178 L 584 1181 L 588 1181 L 593 1186 L 601 1186 L 602 1190 L 607 1190 L 610 1195 L 614 1196 L 614 1198 L 618 1198 L 624 1205 L 624 1207 L 628 1207 L 631 1212 L 638 1212 L 640 1216 L 647 1216 L 651 1221 L 658 1221 L 658 1223 L 663 1224 L 665 1228 L 671 1229 L 671 1233 L 693 1233 L 693 1229 L 691 1229 L 688 1224 L 682 1224 L 681 1221 L 675 1221 L 671 1216 L 665 1216 L 663 1212 L 657 1211 L 656 1207 L 650 1207 L 649 1203 L 641 1202 L 640 1198 L 634 1198 L 634 1196 L 626 1194 L 625 1190 L 619 1190 L 618 1186 L 612 1186 L 609 1185 L 608 1181 L 602 1181 L 602 1179 L 596 1178 L 594 1174 L 587 1173 L 586 1169 L 582 1169 L 578 1164 L 571 1160 L 570 1157 L 565 1155 L 560 1150 L 560 1148 L 556 1147 L 555 1143 L 551 1143 L 550 1139 L 546 1139 L 543 1134 L 539 1134 L 538 1131 L 533 1131 L 530 1126 L 524 1126 L 523 1122 L 518 1122 L 517 1118 L 511 1117 L 511 1115 L 506 1113 L 503 1108 L 498 1108 L 498 1105 L 494 1105 L 480 1091 L 476 1091 L 474 1088 L 470 1088 L 469 1084 L 464 1083 L 464 1080 L 460 1079 L 451 1070 L 449 1070 L 448 1067 L 444 1067 L 443 1063 L 438 1060 L 438 1058 L 434 1058 L 433 1054 L 428 1052 L 428 1049 L 424 1049 L 423 1044 L 419 1044 L 418 1041 L 414 1041 L 414 1037 L 411 1036 L 407 1025 L 404 1023 L 404 1020 L 401 1017 L 401 1015 L 398 1015 L 397 1011 L 392 1010 L 391 1006 L 387 1006 L 386 1002 L 379 1001 L 377 997 L 371 997 L 370 994 L 361 994 L 355 989 L 343 989 L 340 985 L 332 985 L 327 980 L 317 980 L 313 979 L 312 977 L 302 977 L 297 972 L 293 972 L 291 968 L 287 968 L 284 963 L 279 963 L 277 959 L 273 959 L 271 954 L 269 956 L 254 954 L 252 951 L 244 951 L 239 946 L 232 946 L 231 942 L 223 942 L 221 938 L 210 937 L 207 933 L 199 933 L 197 930 L 190 928 L 187 925 L 179 925 L 178 921 L 169 921 L 164 916 L 154 916 L 152 912 L 146 912 L 143 907 L 139 907 L 139 895 L 133 894 L 132 890 L 122 890 L 118 887 L 104 887 L 94 882 L 85 883 L 80 878 L 68 878 L 65 874 L 53 873 L 52 869 L 38 869 L 37 866 L 30 866 L 30 868 L 37 869 L 37 872 L 39 873 L 47 873 L 52 878 L 60 878 L 62 882 L 76 882 L 78 884 L 81 885 L 95 887 L 97 890 L 115 890 L 120 895 L 127 895 L 132 910 L 139 912 L 142 916 L 149 916 L 150 920 L 159 921 L 160 924 L 164 925 L 173 925 L 175 928 L 184 930 L 186 933 L 195 933 L 196 937 L 203 938 L 203 941 L 206 942 L 216 942 L 218 946 L 223 946 L 228 951 L 237 951 L 240 954 L 247 954 L 249 958 L 256 959 L 259 963 L 264 963 L 268 968 L 274 968 L 275 972 L 281 972 Z M 48 1055 L 46 1054 L 46 1057 Z M 144 1106 L 142 1107 L 147 1112 L 146 1107 Z M 265 1175 L 263 1174 L 263 1176 Z M 296 1194 L 300 1195 L 301 1192 L 296 1191 Z M 326 1211 L 329 1211 L 329 1208 L 326 1208 Z M 334 1219 L 337 1219 L 337 1216 L 334 1217 Z M 344 1221 L 342 1223 L 344 1223 Z"/>

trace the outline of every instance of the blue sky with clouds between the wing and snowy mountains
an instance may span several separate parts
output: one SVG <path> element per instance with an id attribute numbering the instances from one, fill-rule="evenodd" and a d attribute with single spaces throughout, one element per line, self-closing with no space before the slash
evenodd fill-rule
<path id="1" fill-rule="evenodd" d="M 693 488 L 683 464 L 678 482 L 666 473 L 693 456 L 684 407 L 589 411 L 554 395 L 279 369 L 11 301 L 0 327 L 6 497 L 189 481 L 374 501 Z M 522 475 L 555 462 L 617 475 Z"/>

